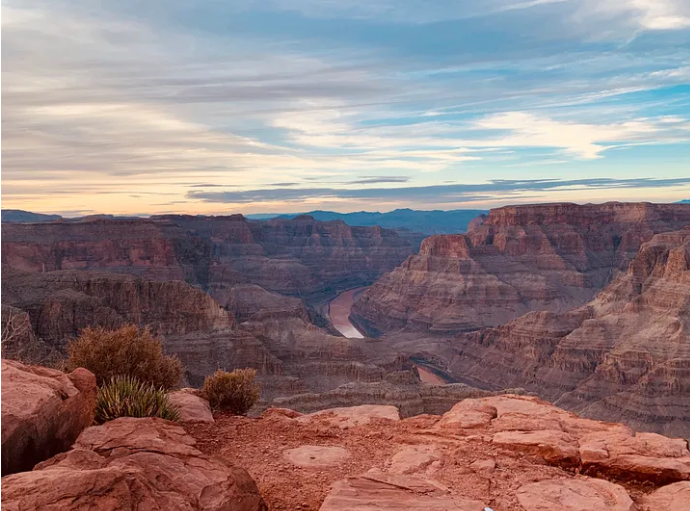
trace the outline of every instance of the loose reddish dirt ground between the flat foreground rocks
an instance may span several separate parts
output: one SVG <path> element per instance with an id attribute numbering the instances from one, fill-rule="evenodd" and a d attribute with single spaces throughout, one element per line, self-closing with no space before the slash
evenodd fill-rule
<path id="1" fill-rule="evenodd" d="M 410 445 L 434 446 L 441 453 L 440 459 L 424 469 L 426 476 L 453 494 L 480 500 L 494 511 L 521 510 L 515 492 L 524 484 L 576 477 L 574 471 L 497 448 L 481 435 L 436 436 L 428 428 L 437 418 L 429 416 L 399 422 L 372 419 L 359 426 L 337 426 L 317 418 L 300 422 L 270 412 L 256 419 L 224 414 L 215 418 L 215 424 L 186 426 L 197 447 L 247 469 L 275 511 L 316 511 L 334 482 L 371 468 L 385 469 L 401 448 Z M 283 452 L 303 445 L 342 447 L 350 457 L 336 466 L 295 466 Z M 625 486 L 633 498 L 651 489 L 635 482 Z"/>

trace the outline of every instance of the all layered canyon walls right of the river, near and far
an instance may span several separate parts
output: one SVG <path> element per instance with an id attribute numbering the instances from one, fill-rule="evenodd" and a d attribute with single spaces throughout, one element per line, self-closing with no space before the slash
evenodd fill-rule
<path id="1" fill-rule="evenodd" d="M 427 238 L 361 295 L 351 320 L 455 381 L 520 387 L 586 417 L 688 437 L 681 208 L 492 210 L 464 236 Z M 598 222 L 610 214 L 618 223 Z"/>

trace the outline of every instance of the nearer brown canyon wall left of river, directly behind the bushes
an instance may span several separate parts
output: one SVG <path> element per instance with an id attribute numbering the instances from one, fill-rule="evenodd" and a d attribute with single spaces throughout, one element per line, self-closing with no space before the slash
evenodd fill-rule
<path id="1" fill-rule="evenodd" d="M 310 323 L 299 299 L 281 300 L 255 285 L 238 285 L 235 291 L 226 305 L 240 312 L 242 324 L 207 293 L 181 281 L 88 270 L 6 269 L 3 320 L 12 318 L 17 334 L 3 344 L 3 355 L 52 362 L 87 326 L 134 323 L 150 328 L 165 351 L 180 358 L 186 384 L 201 386 L 217 369 L 251 367 L 266 400 L 323 392 L 351 381 L 383 381 L 391 370 L 412 369 L 383 342 L 331 335 Z"/>

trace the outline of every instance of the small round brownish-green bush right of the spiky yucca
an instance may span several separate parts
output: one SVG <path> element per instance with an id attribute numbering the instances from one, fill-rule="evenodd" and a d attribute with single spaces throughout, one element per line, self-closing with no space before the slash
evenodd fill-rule
<path id="1" fill-rule="evenodd" d="M 204 395 L 214 410 L 246 415 L 258 401 L 261 387 L 254 382 L 256 370 L 216 371 L 204 381 Z"/>

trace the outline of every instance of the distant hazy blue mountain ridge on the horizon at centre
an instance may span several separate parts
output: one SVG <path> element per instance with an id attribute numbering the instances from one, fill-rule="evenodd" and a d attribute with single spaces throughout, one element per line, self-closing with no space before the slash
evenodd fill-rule
<path id="1" fill-rule="evenodd" d="M 388 229 L 406 229 L 426 235 L 458 234 L 467 230 L 468 224 L 479 215 L 488 211 L 480 209 L 455 209 L 451 211 L 418 211 L 414 209 L 396 209 L 388 213 L 358 211 L 356 213 L 337 213 L 335 211 L 311 211 L 301 213 L 313 217 L 315 220 L 328 222 L 342 220 L 348 225 L 372 227 L 379 225 Z M 269 218 L 295 218 L 300 214 L 257 214 L 246 215 L 253 220 Z"/>

